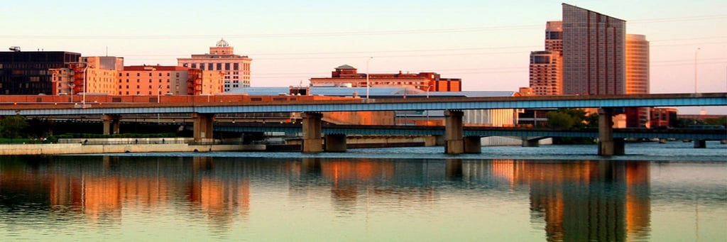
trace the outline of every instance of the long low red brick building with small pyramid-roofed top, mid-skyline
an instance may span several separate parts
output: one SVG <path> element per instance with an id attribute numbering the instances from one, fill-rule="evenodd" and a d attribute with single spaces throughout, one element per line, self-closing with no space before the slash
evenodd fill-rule
<path id="1" fill-rule="evenodd" d="M 330 78 L 310 78 L 313 86 L 351 86 L 365 87 L 367 73 L 358 73 L 356 68 L 350 65 L 341 65 L 331 73 Z M 438 73 L 395 73 L 395 74 L 371 74 L 368 73 L 370 86 L 411 86 L 422 91 L 430 92 L 460 92 L 462 91 L 462 79 L 441 78 Z"/>

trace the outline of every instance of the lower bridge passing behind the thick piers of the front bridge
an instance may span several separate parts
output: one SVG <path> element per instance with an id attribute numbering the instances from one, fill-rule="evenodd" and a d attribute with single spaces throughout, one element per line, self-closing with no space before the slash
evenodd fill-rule
<path id="1" fill-rule="evenodd" d="M 300 124 L 275 123 L 236 123 L 220 124 L 214 127 L 214 132 L 282 132 L 302 133 Z M 343 152 L 346 150 L 346 137 L 349 135 L 414 135 L 414 136 L 443 136 L 446 126 L 388 126 L 388 125 L 336 125 L 324 124 L 321 126 L 324 151 Z M 521 127 L 480 127 L 465 126 L 462 128 L 465 142 L 464 153 L 481 153 L 479 140 L 481 137 L 505 136 L 521 137 L 523 146 L 538 146 L 538 141 L 548 137 L 588 137 L 598 138 L 596 128 L 587 129 L 551 129 L 551 128 L 521 128 Z M 627 128 L 613 129 L 615 139 L 676 139 L 694 140 L 695 148 L 705 148 L 706 140 L 727 140 L 727 129 L 646 129 Z"/>

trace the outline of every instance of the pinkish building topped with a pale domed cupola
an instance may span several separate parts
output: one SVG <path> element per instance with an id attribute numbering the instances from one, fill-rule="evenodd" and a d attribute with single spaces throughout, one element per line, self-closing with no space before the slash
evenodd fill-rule
<path id="1" fill-rule="evenodd" d="M 235 55 L 228 41 L 221 39 L 209 54 L 192 55 L 190 58 L 177 58 L 177 65 L 200 70 L 217 70 L 225 73 L 224 91 L 250 86 L 250 63 L 245 55 Z"/>

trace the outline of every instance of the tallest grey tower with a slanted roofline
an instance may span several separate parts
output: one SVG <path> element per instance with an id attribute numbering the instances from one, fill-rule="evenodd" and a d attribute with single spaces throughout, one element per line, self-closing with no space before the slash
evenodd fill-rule
<path id="1" fill-rule="evenodd" d="M 563 4 L 563 94 L 626 93 L 626 21 Z"/>

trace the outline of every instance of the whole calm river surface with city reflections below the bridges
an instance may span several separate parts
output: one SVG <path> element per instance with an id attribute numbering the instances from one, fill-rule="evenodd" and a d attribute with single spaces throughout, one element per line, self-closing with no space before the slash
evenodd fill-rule
<path id="1" fill-rule="evenodd" d="M 727 241 L 691 145 L 0 157 L 0 241 Z"/>

